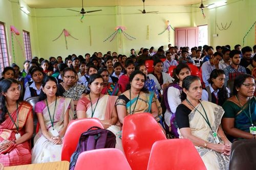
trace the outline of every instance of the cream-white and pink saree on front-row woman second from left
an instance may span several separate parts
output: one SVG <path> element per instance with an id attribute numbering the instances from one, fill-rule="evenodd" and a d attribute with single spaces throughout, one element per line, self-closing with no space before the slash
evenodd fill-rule
<path id="1" fill-rule="evenodd" d="M 55 102 L 49 105 L 51 117 L 53 117 Z M 54 115 L 54 130 L 61 132 L 64 126 L 64 117 L 66 111 L 69 109 L 69 120 L 74 116 L 73 100 L 69 98 L 57 99 L 55 115 Z M 45 126 L 48 132 L 52 131 L 52 124 L 49 116 L 47 106 L 42 110 Z M 62 144 L 53 144 L 50 142 L 39 129 L 34 138 L 34 148 L 32 149 L 32 163 L 54 162 L 61 160 Z"/>

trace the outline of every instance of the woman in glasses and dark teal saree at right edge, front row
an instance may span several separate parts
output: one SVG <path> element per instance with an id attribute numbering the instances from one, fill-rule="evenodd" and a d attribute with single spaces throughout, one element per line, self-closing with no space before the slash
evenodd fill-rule
<path id="1" fill-rule="evenodd" d="M 225 111 L 222 127 L 230 137 L 230 141 L 255 139 L 256 101 L 253 96 L 254 91 L 255 81 L 251 75 L 243 74 L 234 79 L 234 95 L 222 106 Z"/>

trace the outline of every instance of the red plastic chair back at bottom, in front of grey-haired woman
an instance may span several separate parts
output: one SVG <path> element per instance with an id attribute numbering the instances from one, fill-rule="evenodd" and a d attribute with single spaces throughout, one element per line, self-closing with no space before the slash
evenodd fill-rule
<path id="1" fill-rule="evenodd" d="M 188 139 L 167 139 L 153 144 L 147 170 L 206 169 L 194 144 Z"/>

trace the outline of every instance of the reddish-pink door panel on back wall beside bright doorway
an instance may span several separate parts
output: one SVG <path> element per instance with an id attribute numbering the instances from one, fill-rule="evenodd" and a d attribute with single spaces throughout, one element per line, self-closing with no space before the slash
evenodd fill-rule
<path id="1" fill-rule="evenodd" d="M 198 27 L 175 28 L 175 45 L 198 46 Z"/>

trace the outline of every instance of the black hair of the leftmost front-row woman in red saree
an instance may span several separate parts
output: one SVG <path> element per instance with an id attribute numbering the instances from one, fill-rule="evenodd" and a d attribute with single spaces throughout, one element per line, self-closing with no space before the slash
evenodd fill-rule
<path id="1" fill-rule="evenodd" d="M 6 107 L 6 96 L 3 93 L 7 92 L 13 83 L 18 84 L 18 81 L 15 79 L 4 79 L 0 82 L 0 124 L 5 121 L 5 115 L 8 111 Z"/>

